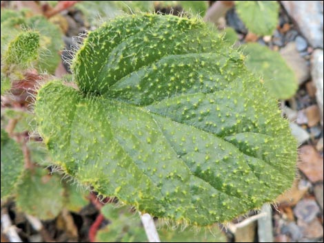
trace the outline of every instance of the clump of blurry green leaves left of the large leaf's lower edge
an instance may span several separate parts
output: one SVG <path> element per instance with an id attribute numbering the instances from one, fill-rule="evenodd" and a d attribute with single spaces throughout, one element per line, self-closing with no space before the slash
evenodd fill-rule
<path id="1" fill-rule="evenodd" d="M 32 115 L 15 109 L 1 110 L 1 127 L 8 120 L 15 120 L 13 137 L 30 130 Z M 43 143 L 30 141 L 26 145 L 9 138 L 1 128 L 1 200 L 14 198 L 17 209 L 37 216 L 41 220 L 55 218 L 63 209 L 79 211 L 88 204 L 84 189 L 77 190 L 75 184 L 62 180 L 61 176 L 49 175 L 40 165 L 52 165 Z M 25 147 L 26 146 L 26 147 Z M 28 148 L 28 155 L 26 153 Z M 26 160 L 30 160 L 26 162 Z M 25 167 L 25 169 L 24 169 Z M 32 198 L 32 200 L 30 200 Z"/>

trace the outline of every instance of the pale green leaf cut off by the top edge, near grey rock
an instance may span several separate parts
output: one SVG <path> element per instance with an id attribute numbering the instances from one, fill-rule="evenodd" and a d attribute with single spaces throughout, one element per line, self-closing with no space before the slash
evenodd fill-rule
<path id="1" fill-rule="evenodd" d="M 271 35 L 278 25 L 277 1 L 235 1 L 235 8 L 243 23 L 254 34 Z"/>

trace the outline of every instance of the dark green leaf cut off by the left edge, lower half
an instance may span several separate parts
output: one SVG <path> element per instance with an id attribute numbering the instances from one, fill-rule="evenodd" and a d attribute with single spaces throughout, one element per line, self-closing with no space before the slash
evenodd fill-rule
<path id="1" fill-rule="evenodd" d="M 1 129 L 1 200 L 12 196 L 23 172 L 23 152 Z"/>

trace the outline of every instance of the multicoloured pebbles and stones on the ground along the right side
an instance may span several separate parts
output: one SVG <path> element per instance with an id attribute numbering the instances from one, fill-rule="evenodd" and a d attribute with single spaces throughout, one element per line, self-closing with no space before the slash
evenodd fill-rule
<path id="1" fill-rule="evenodd" d="M 279 51 L 298 79 L 296 95 L 282 102 L 300 144 L 298 171 L 292 189 L 272 207 L 274 241 L 323 242 L 323 1 L 281 1 L 279 28 L 259 39 L 247 32 L 234 9 L 226 20 L 241 42 Z M 254 240 L 255 232 L 245 240 Z"/>

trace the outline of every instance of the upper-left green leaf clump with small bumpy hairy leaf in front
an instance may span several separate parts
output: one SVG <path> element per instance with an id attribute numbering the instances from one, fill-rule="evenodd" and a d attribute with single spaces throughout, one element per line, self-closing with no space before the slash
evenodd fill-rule
<path id="1" fill-rule="evenodd" d="M 8 76 L 12 69 L 26 71 L 30 67 L 39 72 L 54 74 L 63 47 L 59 28 L 43 16 L 27 11 L 1 10 L 1 73 Z"/>

